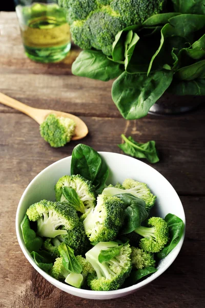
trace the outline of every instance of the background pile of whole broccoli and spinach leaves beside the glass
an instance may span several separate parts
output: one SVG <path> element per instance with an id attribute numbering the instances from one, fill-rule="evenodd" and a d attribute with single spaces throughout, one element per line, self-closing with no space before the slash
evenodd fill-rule
<path id="1" fill-rule="evenodd" d="M 125 119 L 145 117 L 165 91 L 204 94 L 198 63 L 205 56 L 204 0 L 58 1 L 68 11 L 75 43 L 86 49 L 73 73 L 103 81 L 117 77 L 112 99 Z"/>

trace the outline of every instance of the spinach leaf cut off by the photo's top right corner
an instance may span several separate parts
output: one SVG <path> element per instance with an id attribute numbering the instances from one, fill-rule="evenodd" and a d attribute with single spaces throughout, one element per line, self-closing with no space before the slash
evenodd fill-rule
<path id="1" fill-rule="evenodd" d="M 205 0 L 172 0 L 174 10 L 182 14 L 205 14 Z"/>

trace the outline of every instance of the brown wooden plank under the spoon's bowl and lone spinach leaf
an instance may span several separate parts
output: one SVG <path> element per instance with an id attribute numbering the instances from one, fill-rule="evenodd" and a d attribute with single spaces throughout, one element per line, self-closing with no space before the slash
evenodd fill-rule
<path id="1" fill-rule="evenodd" d="M 153 164 L 180 195 L 204 195 L 204 133 L 203 121 L 155 119 L 126 121 L 124 119 L 82 117 L 89 135 L 82 143 L 97 151 L 121 152 L 117 144 L 120 134 L 132 136 L 138 142 L 156 141 L 160 162 Z M 1 183 L 20 179 L 26 187 L 34 176 L 51 163 L 71 155 L 78 142 L 63 148 L 51 148 L 40 137 L 38 124 L 24 114 L 0 113 Z M 43 155 L 42 155 L 43 153 Z M 122 152 L 121 152 L 122 153 Z M 11 172 L 16 168 L 16 172 Z"/>

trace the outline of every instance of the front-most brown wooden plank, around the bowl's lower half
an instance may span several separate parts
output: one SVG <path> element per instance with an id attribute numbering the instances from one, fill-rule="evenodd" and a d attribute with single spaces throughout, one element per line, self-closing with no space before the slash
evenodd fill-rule
<path id="1" fill-rule="evenodd" d="M 13 166 L 16 173 L 18 166 Z M 136 293 L 113 300 L 95 301 L 64 293 L 42 278 L 20 251 L 15 234 L 15 211 L 23 193 L 22 182 L 5 184 L 2 189 L 0 217 L 0 293 L 2 308 L 202 308 L 205 300 L 204 272 L 204 202 L 201 197 L 182 197 L 187 219 L 185 242 L 169 269 Z M 12 192 L 8 194 L 8 191 Z M 197 208 L 197 211 L 196 211 Z M 6 245 L 5 245 L 6 243 Z"/>

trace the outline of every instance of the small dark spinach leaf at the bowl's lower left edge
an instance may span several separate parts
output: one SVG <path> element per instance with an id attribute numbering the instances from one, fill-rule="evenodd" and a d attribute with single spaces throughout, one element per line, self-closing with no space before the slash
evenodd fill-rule
<path id="1" fill-rule="evenodd" d="M 48 252 L 37 251 L 32 252 L 31 256 L 33 257 L 35 263 L 43 269 L 46 273 L 49 273 L 53 266 L 53 259 Z"/>

